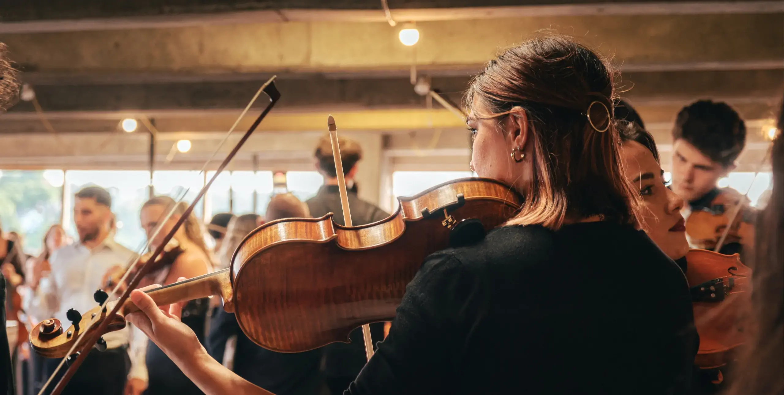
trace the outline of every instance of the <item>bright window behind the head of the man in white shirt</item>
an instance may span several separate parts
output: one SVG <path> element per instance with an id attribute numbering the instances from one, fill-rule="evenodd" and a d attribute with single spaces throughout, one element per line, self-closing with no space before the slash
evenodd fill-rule
<path id="1" fill-rule="evenodd" d="M 78 238 L 73 221 L 74 194 L 83 187 L 97 185 L 111 194 L 111 210 L 117 220 L 114 240 L 137 251 L 147 236 L 141 228 L 139 211 L 150 197 L 147 186 L 150 172 L 143 170 L 68 170 L 65 172 L 63 223 L 72 237 Z"/>

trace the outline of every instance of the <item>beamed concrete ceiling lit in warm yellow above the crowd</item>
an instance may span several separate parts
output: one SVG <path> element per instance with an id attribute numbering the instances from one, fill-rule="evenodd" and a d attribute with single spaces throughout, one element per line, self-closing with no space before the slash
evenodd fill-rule
<path id="1" fill-rule="evenodd" d="M 782 2 L 390 0 L 397 27 L 375 0 L 73 3 L 28 0 L 0 12 L 0 42 L 43 111 L 18 103 L 0 117 L 0 136 L 32 142 L 54 130 L 93 147 L 75 139 L 118 133 L 118 121 L 134 116 L 154 119 L 162 135 L 209 140 L 272 74 L 283 97 L 261 126 L 277 132 L 270 136 L 321 131 L 328 113 L 355 132 L 456 132 L 459 118 L 437 104 L 426 109 L 413 92 L 412 67 L 459 102 L 470 75 L 499 48 L 543 29 L 611 57 L 622 96 L 659 143 L 669 143 L 677 110 L 700 98 L 731 103 L 755 128 L 750 141 L 764 143 L 758 131 L 782 99 Z M 412 20 L 421 38 L 405 47 L 397 30 Z M 126 148 L 142 155 L 145 143 L 133 141 Z M 411 143 L 386 141 L 391 149 Z M 444 150 L 466 147 L 462 134 L 438 141 Z M 76 152 L 51 149 L 57 158 Z M 0 155 L 31 154 L 22 151 Z"/>

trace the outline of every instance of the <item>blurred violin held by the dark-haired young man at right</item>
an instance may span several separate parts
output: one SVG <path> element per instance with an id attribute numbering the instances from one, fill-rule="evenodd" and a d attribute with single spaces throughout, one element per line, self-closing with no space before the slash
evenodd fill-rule
<path id="1" fill-rule="evenodd" d="M 753 249 L 755 211 L 745 195 L 731 188 L 721 189 L 709 205 L 688 214 L 686 238 L 691 248 L 713 251 L 737 210 L 723 245 L 738 243 L 744 250 Z"/>

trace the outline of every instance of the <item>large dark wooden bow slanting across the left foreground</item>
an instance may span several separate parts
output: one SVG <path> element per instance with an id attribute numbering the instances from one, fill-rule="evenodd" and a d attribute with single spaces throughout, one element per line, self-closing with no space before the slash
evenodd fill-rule
<path id="1" fill-rule="evenodd" d="M 116 301 L 116 304 L 114 305 L 114 308 L 112 308 L 111 312 L 109 312 L 105 317 L 103 317 L 103 321 L 101 321 L 101 323 L 98 325 L 98 328 L 96 328 L 93 331 L 93 335 L 91 335 L 89 337 L 89 340 L 87 342 L 85 342 L 84 345 L 82 346 L 82 350 L 78 353 L 78 357 L 76 357 L 76 359 L 71 362 L 71 365 L 65 371 L 65 374 L 63 375 L 62 379 L 60 379 L 60 382 L 57 382 L 57 386 L 54 388 L 54 390 L 52 392 L 52 395 L 60 395 L 60 393 L 63 392 L 63 390 L 65 389 L 65 386 L 68 383 L 68 381 L 71 380 L 71 378 L 76 373 L 76 370 L 78 369 L 78 367 L 82 364 L 82 362 L 84 362 L 84 360 L 87 357 L 87 354 L 89 353 L 90 349 L 92 349 L 93 345 L 98 341 L 98 339 L 100 339 L 100 337 L 103 335 L 103 331 L 106 331 L 106 329 L 109 326 L 109 323 L 112 320 L 112 318 L 114 318 L 117 315 L 118 311 L 122 308 L 123 303 L 125 303 L 125 301 L 129 298 L 129 296 L 131 294 L 131 291 L 134 288 L 136 288 L 136 286 L 139 285 L 139 282 L 142 280 L 142 278 L 147 275 L 147 272 L 149 272 L 150 267 L 151 267 L 150 264 L 153 263 L 155 261 L 155 259 L 158 258 L 158 255 L 161 255 L 161 253 L 163 252 L 163 249 L 165 248 L 166 244 L 168 244 L 169 241 L 172 239 L 172 237 L 174 236 L 174 233 L 176 232 L 176 230 L 178 230 L 180 228 L 180 226 L 182 226 L 182 224 L 185 223 L 185 220 L 187 219 L 187 217 L 191 215 L 191 212 L 193 212 L 194 207 L 196 206 L 198 201 L 204 196 L 204 194 L 209 189 L 209 187 L 212 186 L 212 183 L 215 181 L 215 179 L 220 175 L 221 172 L 223 172 L 223 169 L 225 169 L 226 166 L 231 161 L 231 159 L 234 158 L 234 155 L 237 154 L 237 152 L 240 150 L 240 148 L 249 139 L 250 135 L 256 130 L 256 128 L 261 123 L 261 121 L 267 116 L 267 114 L 270 112 L 270 110 L 272 110 L 272 107 L 274 107 L 275 103 L 278 103 L 278 100 L 281 98 L 281 94 L 280 94 L 280 92 L 278 92 L 278 89 L 275 88 L 274 79 L 275 79 L 275 76 L 270 78 L 264 85 L 262 85 L 261 89 L 259 89 L 259 92 L 256 92 L 256 96 L 254 96 L 253 99 L 251 100 L 251 103 L 249 103 L 248 106 L 245 107 L 245 111 L 242 112 L 242 114 L 240 115 L 238 120 L 234 122 L 234 126 L 231 127 L 230 131 L 227 133 L 227 136 L 224 138 L 223 142 L 225 143 L 225 141 L 227 140 L 228 136 L 230 136 L 231 132 L 233 132 L 234 127 L 236 127 L 236 125 L 238 125 L 238 123 L 239 123 L 239 121 L 241 121 L 241 118 L 243 117 L 243 115 L 245 115 L 245 113 L 249 110 L 249 108 L 252 105 L 253 101 L 256 100 L 256 97 L 258 97 L 261 92 L 264 92 L 265 94 L 267 94 L 267 96 L 269 96 L 270 103 L 267 104 L 267 107 L 264 108 L 264 110 L 261 112 L 259 117 L 256 118 L 256 121 L 253 122 L 253 124 L 250 126 L 248 131 L 245 132 L 245 135 L 242 136 L 242 138 L 234 146 L 234 148 L 230 151 L 230 153 L 227 155 L 227 157 L 225 159 L 223 159 L 223 162 L 221 162 L 220 166 L 218 167 L 218 169 L 216 170 L 216 172 L 212 176 L 212 178 L 209 179 L 209 182 L 206 183 L 205 186 L 201 188 L 201 190 L 199 190 L 199 193 L 196 195 L 196 198 L 194 198 L 194 201 L 191 203 L 191 205 L 188 206 L 188 208 L 185 209 L 185 212 L 183 212 L 183 215 L 180 216 L 180 219 L 177 220 L 177 222 L 174 225 L 174 227 L 172 227 L 172 230 L 170 230 L 169 233 L 166 234 L 166 236 L 164 237 L 164 239 L 161 242 L 161 244 L 158 245 L 157 248 L 155 248 L 155 251 L 152 253 L 150 259 L 147 259 L 147 262 L 143 263 L 143 265 L 137 271 L 136 275 L 132 278 L 132 280 L 128 284 L 128 287 L 125 288 L 125 292 L 123 292 L 122 295 L 120 296 L 120 298 Z M 220 146 L 222 146 L 222 145 L 223 145 L 223 143 L 220 144 Z M 215 153 L 212 154 L 212 157 L 214 157 L 215 154 L 217 154 L 217 151 L 220 150 L 220 146 L 216 149 Z M 209 164 L 209 161 L 211 161 L 211 160 L 212 160 L 212 158 L 210 158 L 207 161 L 207 164 Z M 205 167 L 206 167 L 207 164 L 205 164 Z M 172 209 L 171 212 L 169 212 L 169 216 L 171 216 L 172 213 L 173 213 L 173 209 Z M 168 219 L 169 216 L 167 216 L 167 219 Z M 165 223 L 165 222 L 166 222 L 166 220 L 162 221 L 162 223 Z M 158 231 L 160 231 L 160 229 L 161 229 L 161 227 L 158 226 L 158 229 L 156 230 L 156 234 L 158 233 Z M 153 237 L 149 237 L 149 240 L 153 240 L 153 239 L 154 239 L 154 236 Z M 149 245 L 150 245 L 150 241 L 147 241 L 147 246 L 149 247 Z M 137 254 L 135 259 L 136 259 L 136 263 L 132 264 L 129 267 L 129 270 L 131 270 L 133 268 L 133 266 L 136 266 L 136 264 L 138 264 L 138 261 L 139 261 L 138 254 Z M 129 274 L 129 271 L 126 271 L 125 275 L 123 276 L 123 279 L 125 279 L 125 277 L 127 277 L 128 274 Z M 109 303 L 109 299 L 111 299 L 111 298 L 107 298 L 107 300 L 103 303 L 103 305 L 102 305 L 103 308 L 105 308 L 107 303 Z M 92 326 L 93 326 L 93 322 L 91 322 L 91 324 L 89 325 L 88 328 L 85 328 L 85 331 L 82 332 L 82 334 L 79 336 L 77 341 L 74 342 L 74 346 L 72 346 L 71 350 L 68 351 L 69 355 L 73 355 L 71 353 L 75 350 L 76 346 L 78 346 L 79 341 L 82 340 L 82 338 L 87 333 L 89 333 L 89 328 L 92 327 Z M 60 364 L 57 365 L 57 368 L 53 372 L 52 376 L 49 377 L 49 380 L 42 387 L 42 389 L 38 393 L 38 395 L 42 395 L 42 393 L 45 391 L 46 387 L 49 386 L 49 383 L 52 381 L 53 377 L 57 374 L 57 372 L 63 366 L 64 362 L 67 359 L 69 359 L 69 358 L 70 357 L 65 357 L 65 358 L 63 358 L 63 361 L 60 361 Z"/>

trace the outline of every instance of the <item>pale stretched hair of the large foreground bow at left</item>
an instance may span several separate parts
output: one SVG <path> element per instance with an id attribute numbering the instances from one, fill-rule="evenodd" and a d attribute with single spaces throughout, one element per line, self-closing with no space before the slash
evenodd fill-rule
<path id="1" fill-rule="evenodd" d="M 207 159 L 205 164 L 201 166 L 201 170 L 198 173 L 199 176 L 201 176 L 205 172 L 205 170 L 207 169 L 207 166 L 209 166 L 209 164 L 212 162 L 212 159 L 214 159 L 216 157 L 216 155 L 218 154 L 218 152 L 220 152 L 220 149 L 223 147 L 223 145 L 227 142 L 227 140 L 229 140 L 229 137 L 231 136 L 231 133 L 234 132 L 234 129 L 237 128 L 237 125 L 240 123 L 242 118 L 244 118 L 245 114 L 248 113 L 248 111 L 250 110 L 250 107 L 253 105 L 253 103 L 256 103 L 256 99 L 259 98 L 259 96 L 263 92 L 264 88 L 267 88 L 267 85 L 270 85 L 270 82 L 272 82 L 274 80 L 274 78 L 275 77 L 270 78 L 267 82 L 265 82 L 263 85 L 261 85 L 261 88 L 259 88 L 258 91 L 256 91 L 256 95 L 254 95 L 253 98 L 248 103 L 248 105 L 245 106 L 245 109 L 241 112 L 241 114 L 239 115 L 237 120 L 234 121 L 234 125 L 231 125 L 231 128 L 223 136 L 223 140 L 221 140 L 220 144 L 218 144 L 218 147 L 216 147 L 216 149 L 214 151 L 212 151 L 212 155 L 209 157 L 209 159 Z M 122 275 L 122 277 L 120 277 L 120 279 L 118 280 L 118 284 L 124 284 L 125 283 L 125 281 L 129 277 L 129 274 L 132 272 L 133 268 L 136 267 L 136 265 L 139 263 L 139 260 L 140 260 L 139 258 L 142 255 L 142 253 L 144 251 L 147 251 L 150 248 L 150 246 L 152 245 L 152 241 L 155 240 L 155 237 L 158 237 L 158 234 L 163 229 L 163 225 L 166 222 L 169 221 L 169 218 L 171 218 L 172 215 L 174 215 L 174 212 L 176 211 L 177 205 L 180 203 L 180 201 L 183 201 L 183 199 L 185 198 L 185 196 L 187 196 L 187 193 L 190 190 L 191 190 L 191 187 L 187 187 L 183 191 L 183 193 L 180 196 L 180 198 L 178 198 L 178 200 L 176 201 L 176 204 L 172 206 L 172 208 L 166 214 L 164 219 L 162 221 L 160 221 L 160 224 L 155 227 L 155 230 L 153 231 L 153 234 L 150 237 L 147 237 L 147 241 L 144 242 L 142 247 L 139 250 L 137 250 L 137 252 L 134 253 L 132 258 L 129 259 L 129 262 L 127 262 L 125 264 L 125 266 L 128 266 L 128 269 L 125 270 L 125 273 Z M 100 311 L 103 311 L 107 307 L 107 305 L 110 303 L 111 299 L 116 295 L 117 291 L 118 291 L 118 287 L 117 286 L 112 288 L 111 292 L 109 292 L 109 294 L 107 296 L 107 299 L 105 301 L 103 301 L 103 303 L 100 305 Z M 60 361 L 60 364 L 57 364 L 57 367 L 53 371 L 52 375 L 49 375 L 49 379 L 46 380 L 45 384 L 42 386 L 41 390 L 38 392 L 38 395 L 43 395 L 43 393 L 45 392 L 46 388 L 49 387 L 49 384 L 52 383 L 52 380 L 55 377 L 55 375 L 57 375 L 57 373 L 60 371 L 60 369 L 63 368 L 63 365 L 65 364 L 65 361 L 67 360 L 67 358 L 70 357 L 72 353 L 74 353 L 74 350 L 76 350 L 77 346 L 81 345 L 81 342 L 84 339 L 85 335 L 87 335 L 87 332 L 89 332 L 89 328 L 92 328 L 93 325 L 95 325 L 98 321 L 100 321 L 100 318 L 101 317 L 99 315 L 97 315 L 97 314 L 96 314 L 96 317 L 91 318 L 90 323 L 87 325 L 87 328 L 85 328 L 85 330 L 82 331 L 82 333 L 79 334 L 79 336 L 76 339 L 76 341 L 74 342 L 74 344 L 68 350 L 68 353 L 66 354 L 66 356 Z"/>

